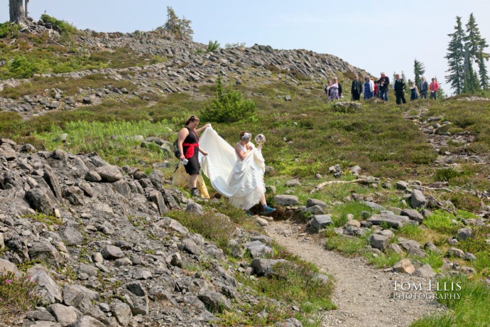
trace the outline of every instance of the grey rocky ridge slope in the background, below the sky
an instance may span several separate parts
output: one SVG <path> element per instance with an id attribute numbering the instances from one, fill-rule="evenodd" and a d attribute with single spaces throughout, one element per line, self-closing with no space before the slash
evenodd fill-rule
<path id="1" fill-rule="evenodd" d="M 56 43 L 59 34 L 44 26 L 26 27 L 23 33 L 44 33 L 49 38 L 45 42 Z M 308 50 L 275 50 L 270 46 L 254 45 L 250 48 L 220 49 L 212 52 L 197 53 L 204 45 L 191 41 L 173 39 L 165 31 L 133 33 L 98 33 L 91 30 L 79 31 L 75 37 L 79 51 L 120 51 L 129 52 L 131 56 L 157 56 L 163 62 L 124 68 L 100 68 L 85 71 L 73 71 L 63 74 L 35 74 L 37 79 L 5 79 L 0 81 L 0 91 L 22 83 L 36 82 L 39 77 L 64 78 L 64 82 L 89 75 L 103 75 L 109 81 L 125 81 L 131 87 L 109 85 L 105 88 L 80 87 L 67 93 L 56 85 L 46 84 L 44 88 L 26 87 L 23 92 L 4 92 L 0 94 L 2 110 L 23 114 L 43 112 L 52 109 L 71 109 L 80 104 L 99 102 L 98 99 L 113 95 L 127 94 L 140 96 L 143 99 L 154 98 L 168 93 L 196 94 L 199 87 L 214 84 L 218 74 L 225 80 L 248 86 L 257 86 L 274 81 L 298 86 L 301 80 L 315 81 L 316 88 L 334 75 L 366 75 L 359 68 L 353 67 L 342 59 Z M 15 40 L 13 41 L 15 44 Z M 19 41 L 17 41 L 19 42 Z M 63 48 L 62 48 L 63 49 Z M 122 50 L 121 50 L 122 49 Z M 68 50 L 68 49 L 65 49 Z M 73 56 L 70 53 L 60 55 Z M 146 59 L 150 61 L 149 59 Z M 123 65 L 123 64 L 122 64 Z M 51 79 L 53 80 L 53 79 Z M 118 84 L 118 83 L 115 83 Z M 112 87 L 111 87 L 112 86 Z M 304 86 L 302 86 L 304 88 Z M 309 86 L 312 87 L 312 86 Z M 312 87 L 313 88 L 313 87 Z M 197 95 L 199 97 L 202 95 Z M 3 98 L 2 98 L 3 97 Z M 89 98 L 92 98 L 91 100 Z"/>

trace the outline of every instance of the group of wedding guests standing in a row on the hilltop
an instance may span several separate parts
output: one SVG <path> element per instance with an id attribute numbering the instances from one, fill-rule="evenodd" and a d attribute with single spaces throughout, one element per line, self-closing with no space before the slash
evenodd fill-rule
<path id="1" fill-rule="evenodd" d="M 327 101 L 341 99 L 342 98 L 342 86 L 338 82 L 337 77 L 333 78 L 333 83 L 328 80 L 325 86 L 325 93 L 327 96 Z M 381 73 L 381 77 L 378 80 L 374 80 L 374 77 L 366 76 L 364 77 L 364 83 L 359 80 L 359 76 L 355 75 L 352 81 L 352 86 L 350 89 L 351 100 L 359 101 L 361 96 L 363 99 L 368 100 L 371 98 L 379 98 L 383 101 L 388 101 L 388 91 L 390 85 L 390 78 L 386 76 L 384 72 Z M 406 103 L 405 100 L 405 83 L 400 78 L 399 74 L 395 75 L 395 81 L 392 84 L 392 89 L 396 97 L 396 103 Z M 425 76 L 421 77 L 420 88 L 417 87 L 415 82 L 410 84 L 410 101 L 417 100 L 418 98 L 427 99 L 427 94 L 430 91 L 429 99 L 437 99 L 437 91 L 439 90 L 439 84 L 435 78 L 432 78 L 429 84 L 425 80 Z"/>

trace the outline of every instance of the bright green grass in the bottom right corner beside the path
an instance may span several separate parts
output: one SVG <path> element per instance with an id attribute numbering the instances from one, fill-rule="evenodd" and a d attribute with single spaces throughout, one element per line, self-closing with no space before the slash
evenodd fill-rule
<path id="1" fill-rule="evenodd" d="M 430 315 L 418 319 L 411 327 L 487 327 L 490 316 L 486 314 L 489 307 L 490 288 L 482 282 L 476 282 L 463 276 L 439 279 L 440 283 L 461 283 L 461 298 L 438 300 L 449 308 L 449 313 Z M 443 294 L 444 292 L 436 292 Z"/>

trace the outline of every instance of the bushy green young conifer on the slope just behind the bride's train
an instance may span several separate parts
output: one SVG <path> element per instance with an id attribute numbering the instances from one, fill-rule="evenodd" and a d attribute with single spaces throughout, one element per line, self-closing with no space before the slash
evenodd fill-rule
<path id="1" fill-rule="evenodd" d="M 233 90 L 231 85 L 223 89 L 221 74 L 216 83 L 215 97 L 206 103 L 201 111 L 203 120 L 209 122 L 231 123 L 255 118 L 257 104 L 254 101 L 242 98 L 238 90 Z"/>

